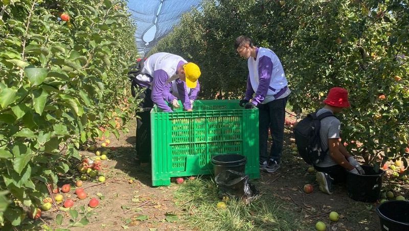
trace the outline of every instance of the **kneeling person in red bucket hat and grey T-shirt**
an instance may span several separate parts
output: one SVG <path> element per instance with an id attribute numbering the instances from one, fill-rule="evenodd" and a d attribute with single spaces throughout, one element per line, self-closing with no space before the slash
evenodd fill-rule
<path id="1" fill-rule="evenodd" d="M 333 114 L 341 112 L 350 106 L 348 101 L 348 91 L 344 88 L 333 87 L 329 90 L 327 98 L 324 100 L 325 106 L 316 112 L 320 116 L 325 112 Z M 340 138 L 340 121 L 333 116 L 321 120 L 320 137 L 323 150 L 328 149 L 328 154 L 324 159 L 314 165 L 316 179 L 320 185 L 320 190 L 327 194 L 332 194 L 332 184 L 345 182 L 347 171 L 356 174 L 365 174 L 358 161 L 352 157 Z"/>

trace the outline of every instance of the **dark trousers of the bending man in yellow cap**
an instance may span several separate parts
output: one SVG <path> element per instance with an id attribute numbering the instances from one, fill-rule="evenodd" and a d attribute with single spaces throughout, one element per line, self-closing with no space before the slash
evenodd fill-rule
<path id="1" fill-rule="evenodd" d="M 149 162 L 151 154 L 150 145 L 150 110 L 153 107 L 153 102 L 150 98 L 151 89 L 147 88 L 142 94 L 137 96 L 137 99 L 141 100 L 139 106 L 142 111 L 136 112 L 137 114 L 137 141 L 135 149 L 137 150 L 137 157 L 141 163 Z"/>

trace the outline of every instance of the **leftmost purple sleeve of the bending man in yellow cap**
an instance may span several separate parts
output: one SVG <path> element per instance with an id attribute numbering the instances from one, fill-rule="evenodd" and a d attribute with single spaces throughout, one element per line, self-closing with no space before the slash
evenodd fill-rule
<path id="1" fill-rule="evenodd" d="M 151 99 L 157 107 L 161 108 L 165 112 L 171 112 L 172 109 L 165 103 L 163 98 L 163 92 L 167 89 L 169 91 L 170 85 L 172 83 L 166 84 L 168 80 L 168 74 L 164 70 L 156 70 L 153 73 L 153 84 L 152 84 L 152 94 Z"/>

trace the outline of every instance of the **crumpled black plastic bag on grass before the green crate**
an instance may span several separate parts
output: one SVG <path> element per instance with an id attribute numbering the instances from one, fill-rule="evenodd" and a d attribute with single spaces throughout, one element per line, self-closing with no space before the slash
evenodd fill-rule
<path id="1" fill-rule="evenodd" d="M 220 172 L 215 181 L 222 194 L 251 202 L 259 193 L 256 187 L 248 182 L 248 176 L 233 170 Z"/>

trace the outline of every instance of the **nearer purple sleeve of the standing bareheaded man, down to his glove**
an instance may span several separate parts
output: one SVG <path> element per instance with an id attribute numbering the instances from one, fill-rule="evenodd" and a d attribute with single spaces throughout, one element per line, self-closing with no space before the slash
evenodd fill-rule
<path id="1" fill-rule="evenodd" d="M 272 62 L 270 57 L 262 56 L 259 61 L 259 87 L 257 88 L 256 96 L 253 98 L 252 102 L 257 105 L 263 102 L 265 96 L 267 95 L 268 88 L 270 86 L 271 73 L 272 73 Z"/>

